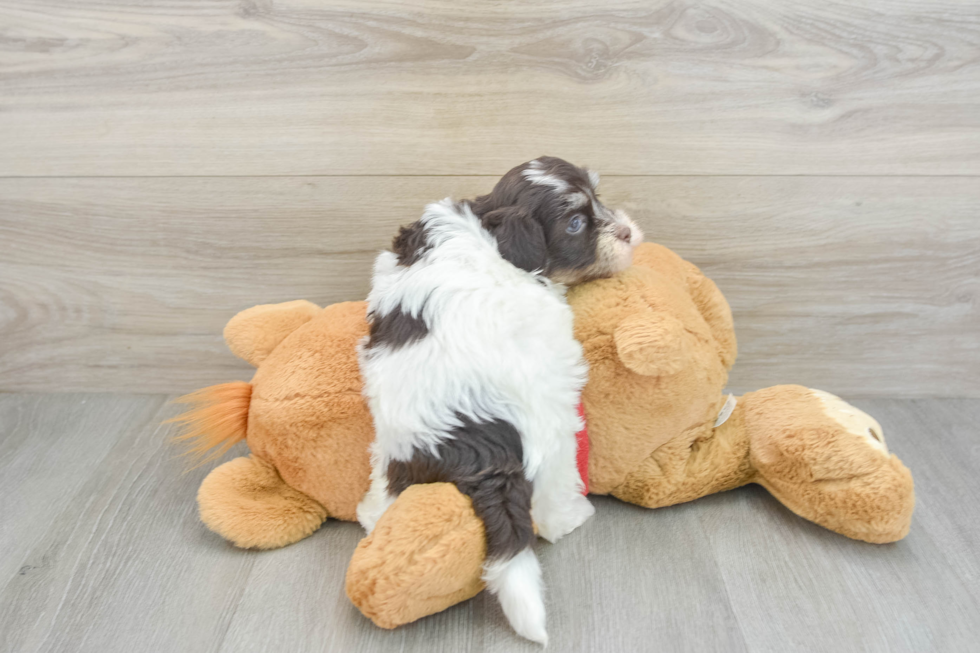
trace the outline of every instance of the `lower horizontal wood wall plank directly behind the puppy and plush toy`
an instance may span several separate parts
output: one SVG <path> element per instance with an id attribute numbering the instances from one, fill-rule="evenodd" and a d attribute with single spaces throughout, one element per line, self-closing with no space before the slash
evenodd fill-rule
<path id="1" fill-rule="evenodd" d="M 399 224 L 491 177 L 0 179 L 0 389 L 247 379 L 254 304 L 361 299 Z M 980 396 L 972 178 L 606 177 L 735 314 L 736 390 Z"/>

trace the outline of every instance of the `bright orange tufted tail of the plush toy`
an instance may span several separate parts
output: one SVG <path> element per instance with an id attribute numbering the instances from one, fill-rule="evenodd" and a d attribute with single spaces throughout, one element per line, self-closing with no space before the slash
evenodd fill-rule
<path id="1" fill-rule="evenodd" d="M 244 381 L 220 383 L 201 388 L 174 401 L 190 404 L 183 415 L 172 417 L 164 424 L 180 424 L 183 433 L 174 438 L 187 443 L 187 453 L 197 456 L 199 464 L 220 458 L 236 443 L 245 439 L 248 426 L 248 405 L 252 400 L 252 384 Z M 209 450 L 215 449 L 205 456 Z"/>

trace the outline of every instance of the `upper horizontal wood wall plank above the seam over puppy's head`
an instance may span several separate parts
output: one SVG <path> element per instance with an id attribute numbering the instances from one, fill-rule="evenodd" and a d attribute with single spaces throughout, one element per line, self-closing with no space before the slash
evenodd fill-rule
<path id="1" fill-rule="evenodd" d="M 969 0 L 5 0 L 0 175 L 980 174 Z"/>

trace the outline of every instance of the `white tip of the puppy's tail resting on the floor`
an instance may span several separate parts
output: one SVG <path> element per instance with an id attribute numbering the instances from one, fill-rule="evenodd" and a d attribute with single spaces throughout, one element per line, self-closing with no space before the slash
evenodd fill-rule
<path id="1" fill-rule="evenodd" d="M 548 645 L 541 565 L 530 546 L 513 558 L 488 561 L 483 580 L 497 596 L 507 621 L 521 637 Z"/>

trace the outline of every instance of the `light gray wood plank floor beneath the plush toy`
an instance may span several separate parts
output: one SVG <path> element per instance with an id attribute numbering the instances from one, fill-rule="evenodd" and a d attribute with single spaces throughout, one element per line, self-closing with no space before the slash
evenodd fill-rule
<path id="1" fill-rule="evenodd" d="M 355 524 L 269 552 L 208 532 L 208 468 L 176 457 L 165 399 L 0 395 L 0 650 L 538 650 L 485 594 L 375 628 L 343 593 Z M 654 511 L 595 498 L 590 522 L 539 547 L 550 649 L 970 650 L 980 400 L 855 403 L 915 476 L 905 540 L 848 540 L 756 487 Z"/>

